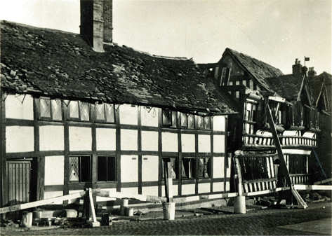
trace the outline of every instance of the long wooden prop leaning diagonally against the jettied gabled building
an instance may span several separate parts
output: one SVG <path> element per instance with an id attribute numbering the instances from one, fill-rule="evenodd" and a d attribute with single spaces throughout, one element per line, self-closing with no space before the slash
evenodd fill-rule
<path id="1" fill-rule="evenodd" d="M 266 105 L 267 105 L 267 121 L 269 122 L 269 125 L 270 125 L 270 130 L 272 132 L 272 136 L 273 136 L 273 139 L 274 139 L 274 145 L 277 148 L 277 153 L 278 153 L 278 157 L 279 157 L 280 162 L 281 162 L 281 166 L 283 167 L 284 174 L 286 174 L 286 182 L 287 182 L 288 186 L 290 186 L 291 193 L 293 193 L 293 196 L 298 201 L 298 204 L 302 205 L 304 208 L 307 208 L 307 204 L 305 203 L 303 198 L 300 196 L 300 194 L 298 194 L 298 191 L 293 186 L 291 176 L 289 175 L 289 172 L 288 172 L 288 169 L 287 169 L 286 160 L 284 158 L 284 153 L 283 153 L 282 148 L 281 148 L 281 144 L 280 144 L 280 141 L 279 141 L 277 130 L 276 130 L 276 127 L 274 125 L 274 121 L 273 121 L 273 118 L 272 118 L 272 113 L 271 113 L 271 110 L 270 110 L 269 103 L 266 102 Z"/>

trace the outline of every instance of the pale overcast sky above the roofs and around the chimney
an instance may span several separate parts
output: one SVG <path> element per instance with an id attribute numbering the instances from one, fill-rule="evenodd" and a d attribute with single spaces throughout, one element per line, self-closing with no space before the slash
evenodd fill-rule
<path id="1" fill-rule="evenodd" d="M 225 48 L 284 74 L 295 58 L 331 73 L 331 0 L 113 0 L 119 45 L 217 62 Z M 79 0 L 1 0 L 0 19 L 79 32 Z"/>

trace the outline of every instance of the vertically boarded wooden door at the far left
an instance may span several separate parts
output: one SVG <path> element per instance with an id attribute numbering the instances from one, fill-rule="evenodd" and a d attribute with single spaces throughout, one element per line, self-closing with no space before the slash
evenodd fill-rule
<path id="1" fill-rule="evenodd" d="M 29 202 L 31 162 L 26 160 L 7 162 L 8 204 Z"/>

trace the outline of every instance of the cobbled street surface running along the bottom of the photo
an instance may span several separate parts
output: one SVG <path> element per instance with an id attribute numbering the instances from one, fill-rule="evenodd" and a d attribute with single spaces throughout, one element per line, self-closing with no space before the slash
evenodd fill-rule
<path id="1" fill-rule="evenodd" d="M 232 214 L 225 209 L 215 214 L 199 210 L 175 221 L 159 218 L 161 211 L 132 219 L 119 218 L 99 228 L 48 228 L 27 230 L 0 228 L 1 235 L 331 235 L 331 202 L 309 204 L 308 209 L 260 209 Z M 195 214 L 196 213 L 196 214 Z M 157 217 L 158 216 L 158 217 Z"/>

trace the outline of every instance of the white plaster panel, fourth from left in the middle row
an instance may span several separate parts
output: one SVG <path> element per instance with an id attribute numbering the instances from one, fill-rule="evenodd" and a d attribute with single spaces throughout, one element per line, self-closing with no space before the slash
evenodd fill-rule
<path id="1" fill-rule="evenodd" d="M 97 142 L 98 151 L 115 150 L 115 144 L 116 144 L 115 129 L 97 128 L 95 129 L 95 138 Z"/>

